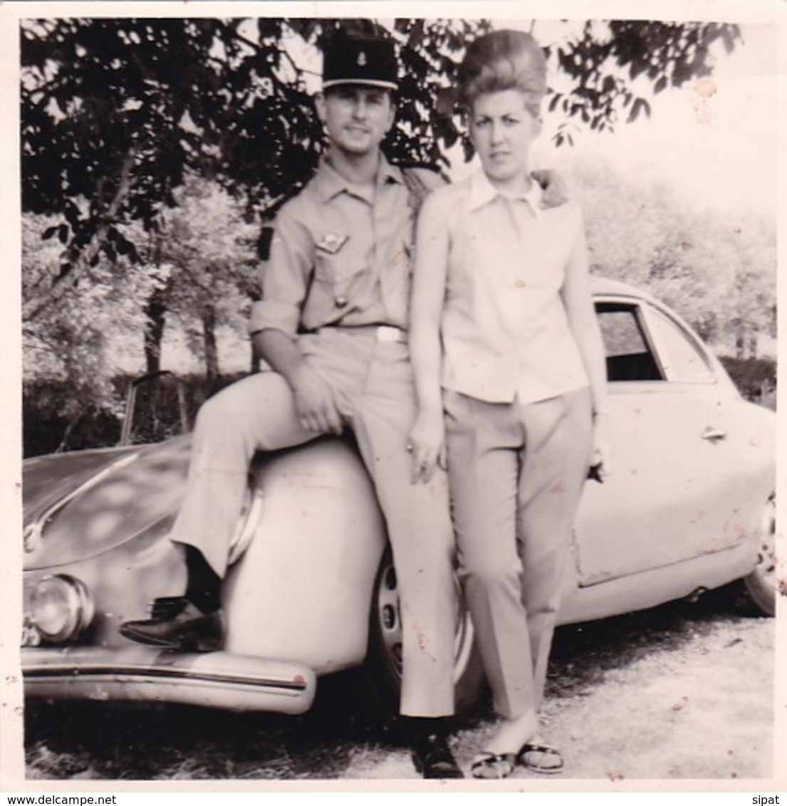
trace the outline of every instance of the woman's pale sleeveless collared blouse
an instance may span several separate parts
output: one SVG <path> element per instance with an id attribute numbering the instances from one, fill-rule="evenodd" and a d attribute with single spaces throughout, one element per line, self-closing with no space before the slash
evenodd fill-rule
<path id="1" fill-rule="evenodd" d="M 532 403 L 588 384 L 560 290 L 585 249 L 581 211 L 503 197 L 483 172 L 435 191 L 448 221 L 443 388 Z"/>

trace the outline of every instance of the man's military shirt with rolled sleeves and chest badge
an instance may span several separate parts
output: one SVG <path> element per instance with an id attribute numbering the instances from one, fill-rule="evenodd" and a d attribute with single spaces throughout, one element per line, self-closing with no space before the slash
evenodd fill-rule
<path id="1" fill-rule="evenodd" d="M 358 188 L 321 160 L 277 215 L 250 332 L 406 328 L 414 207 L 401 169 L 383 156 L 375 182 L 373 189 Z"/>

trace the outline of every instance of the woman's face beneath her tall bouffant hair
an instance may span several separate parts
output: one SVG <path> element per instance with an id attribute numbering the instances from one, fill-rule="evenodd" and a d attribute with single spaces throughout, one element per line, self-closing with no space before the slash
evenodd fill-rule
<path id="1" fill-rule="evenodd" d="M 527 179 L 531 143 L 540 131 L 518 89 L 479 95 L 470 110 L 470 139 L 493 185 Z"/>

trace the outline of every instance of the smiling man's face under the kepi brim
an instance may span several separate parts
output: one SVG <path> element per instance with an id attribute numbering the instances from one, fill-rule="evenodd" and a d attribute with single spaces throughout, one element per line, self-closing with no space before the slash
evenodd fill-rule
<path id="1" fill-rule="evenodd" d="M 317 113 L 331 147 L 365 154 L 380 145 L 393 126 L 393 102 L 386 89 L 344 84 L 317 97 Z"/>

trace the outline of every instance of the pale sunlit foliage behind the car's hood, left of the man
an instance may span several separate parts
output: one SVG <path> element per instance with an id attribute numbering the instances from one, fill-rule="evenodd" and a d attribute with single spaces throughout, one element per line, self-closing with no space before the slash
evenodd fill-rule
<path id="1" fill-rule="evenodd" d="M 130 271 L 126 258 L 112 263 L 102 256 L 58 305 L 24 323 L 25 395 L 66 429 L 91 411 L 119 416 L 125 390 L 109 380 L 115 373 L 110 339 L 117 343 L 125 332 L 127 342 L 141 346 L 152 299 L 177 318 L 196 354 L 205 352 L 206 320 L 246 328 L 258 228 L 244 222 L 242 206 L 216 183 L 186 177 L 174 197 L 178 206 L 167 210 L 157 232 L 146 234 L 139 224 L 121 228 L 139 243 L 139 266 Z M 23 299 L 58 271 L 60 241 L 42 239 L 52 226 L 52 218 L 23 215 Z M 210 380 L 218 375 L 213 360 Z M 42 379 L 56 384 L 54 396 L 48 384 L 36 383 Z"/>

